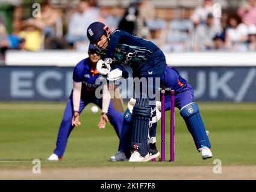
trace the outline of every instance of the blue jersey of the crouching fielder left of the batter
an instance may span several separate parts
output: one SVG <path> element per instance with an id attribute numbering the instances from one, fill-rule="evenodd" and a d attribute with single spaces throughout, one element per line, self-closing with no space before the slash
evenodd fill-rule
<path id="1" fill-rule="evenodd" d="M 73 70 L 73 81 L 82 82 L 82 93 L 91 93 L 95 96 L 95 91 L 100 85 L 95 85 L 96 79 L 100 76 L 97 70 L 93 71 L 90 66 L 90 58 L 78 62 Z"/>

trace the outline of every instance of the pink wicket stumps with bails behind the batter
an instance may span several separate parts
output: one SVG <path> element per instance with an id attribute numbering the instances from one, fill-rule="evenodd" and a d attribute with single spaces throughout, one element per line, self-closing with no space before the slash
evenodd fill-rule
<path id="1" fill-rule="evenodd" d="M 166 94 L 170 95 L 170 161 L 174 161 L 175 155 L 175 91 L 170 88 L 161 89 L 161 159 L 166 161 L 165 158 L 165 98 Z"/>

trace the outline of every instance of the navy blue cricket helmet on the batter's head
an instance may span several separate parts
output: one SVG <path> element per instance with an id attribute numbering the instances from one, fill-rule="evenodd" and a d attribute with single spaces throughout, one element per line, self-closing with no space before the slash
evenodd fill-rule
<path id="1" fill-rule="evenodd" d="M 94 22 L 87 28 L 87 37 L 91 44 L 95 43 L 104 33 L 109 38 L 111 31 L 107 25 L 101 22 Z"/>

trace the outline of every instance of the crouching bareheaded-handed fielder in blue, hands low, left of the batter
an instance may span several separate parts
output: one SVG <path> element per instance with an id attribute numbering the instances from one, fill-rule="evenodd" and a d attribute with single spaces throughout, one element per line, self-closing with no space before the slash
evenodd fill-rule
<path id="1" fill-rule="evenodd" d="M 60 129 L 58 130 L 56 148 L 54 153 L 48 158 L 49 161 L 61 160 L 66 149 L 67 139 L 73 128 L 81 125 L 79 121 L 80 113 L 89 103 L 94 103 L 102 108 L 98 127 L 105 128 L 109 119 L 117 136 L 120 138 L 123 122 L 122 112 L 114 110 L 110 98 L 98 99 L 95 97 L 96 88 L 100 86 L 96 85 L 95 81 L 101 76 L 96 69 L 96 64 L 101 59 L 101 55 L 92 44 L 89 46 L 88 54 L 89 58 L 78 62 L 73 70 L 73 91 L 70 94 L 69 100 L 67 100 Z M 104 105 L 102 105 L 102 100 L 104 100 Z"/>

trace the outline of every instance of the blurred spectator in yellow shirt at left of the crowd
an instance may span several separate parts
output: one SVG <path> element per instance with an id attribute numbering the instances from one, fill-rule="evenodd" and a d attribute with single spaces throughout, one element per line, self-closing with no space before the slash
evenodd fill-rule
<path id="1" fill-rule="evenodd" d="M 41 33 L 37 29 L 34 19 L 28 19 L 23 22 L 24 29 L 19 33 L 19 37 L 25 40 L 25 49 L 37 51 L 42 45 Z"/>

